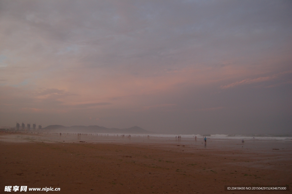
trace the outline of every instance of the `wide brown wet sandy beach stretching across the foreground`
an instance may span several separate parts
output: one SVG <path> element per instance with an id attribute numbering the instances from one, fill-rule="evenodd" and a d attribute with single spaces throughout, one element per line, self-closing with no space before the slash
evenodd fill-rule
<path id="1" fill-rule="evenodd" d="M 1 193 L 15 185 L 117 194 L 221 193 L 225 185 L 292 184 L 291 141 L 208 139 L 204 146 L 202 139 L 109 137 L 102 142 L 107 136 L 89 141 L 86 135 L 81 141 L 88 143 L 81 143 L 77 135 L 67 136 L 1 134 Z M 242 192 L 292 193 L 228 191 Z"/>

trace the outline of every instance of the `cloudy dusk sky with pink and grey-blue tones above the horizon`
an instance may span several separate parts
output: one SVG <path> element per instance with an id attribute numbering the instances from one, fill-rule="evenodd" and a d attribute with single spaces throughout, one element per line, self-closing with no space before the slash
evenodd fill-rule
<path id="1" fill-rule="evenodd" d="M 291 10 L 0 0 L 0 125 L 292 134 Z"/>

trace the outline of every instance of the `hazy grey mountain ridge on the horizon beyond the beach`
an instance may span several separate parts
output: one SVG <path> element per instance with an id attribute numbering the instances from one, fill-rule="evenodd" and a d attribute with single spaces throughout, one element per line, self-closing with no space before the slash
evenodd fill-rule
<path id="1" fill-rule="evenodd" d="M 98 125 L 75 125 L 65 127 L 63 125 L 49 125 L 42 130 L 51 132 L 67 132 L 67 133 L 109 133 L 109 134 L 154 134 L 155 132 L 147 131 L 141 127 L 135 126 L 126 129 L 106 128 Z"/>

